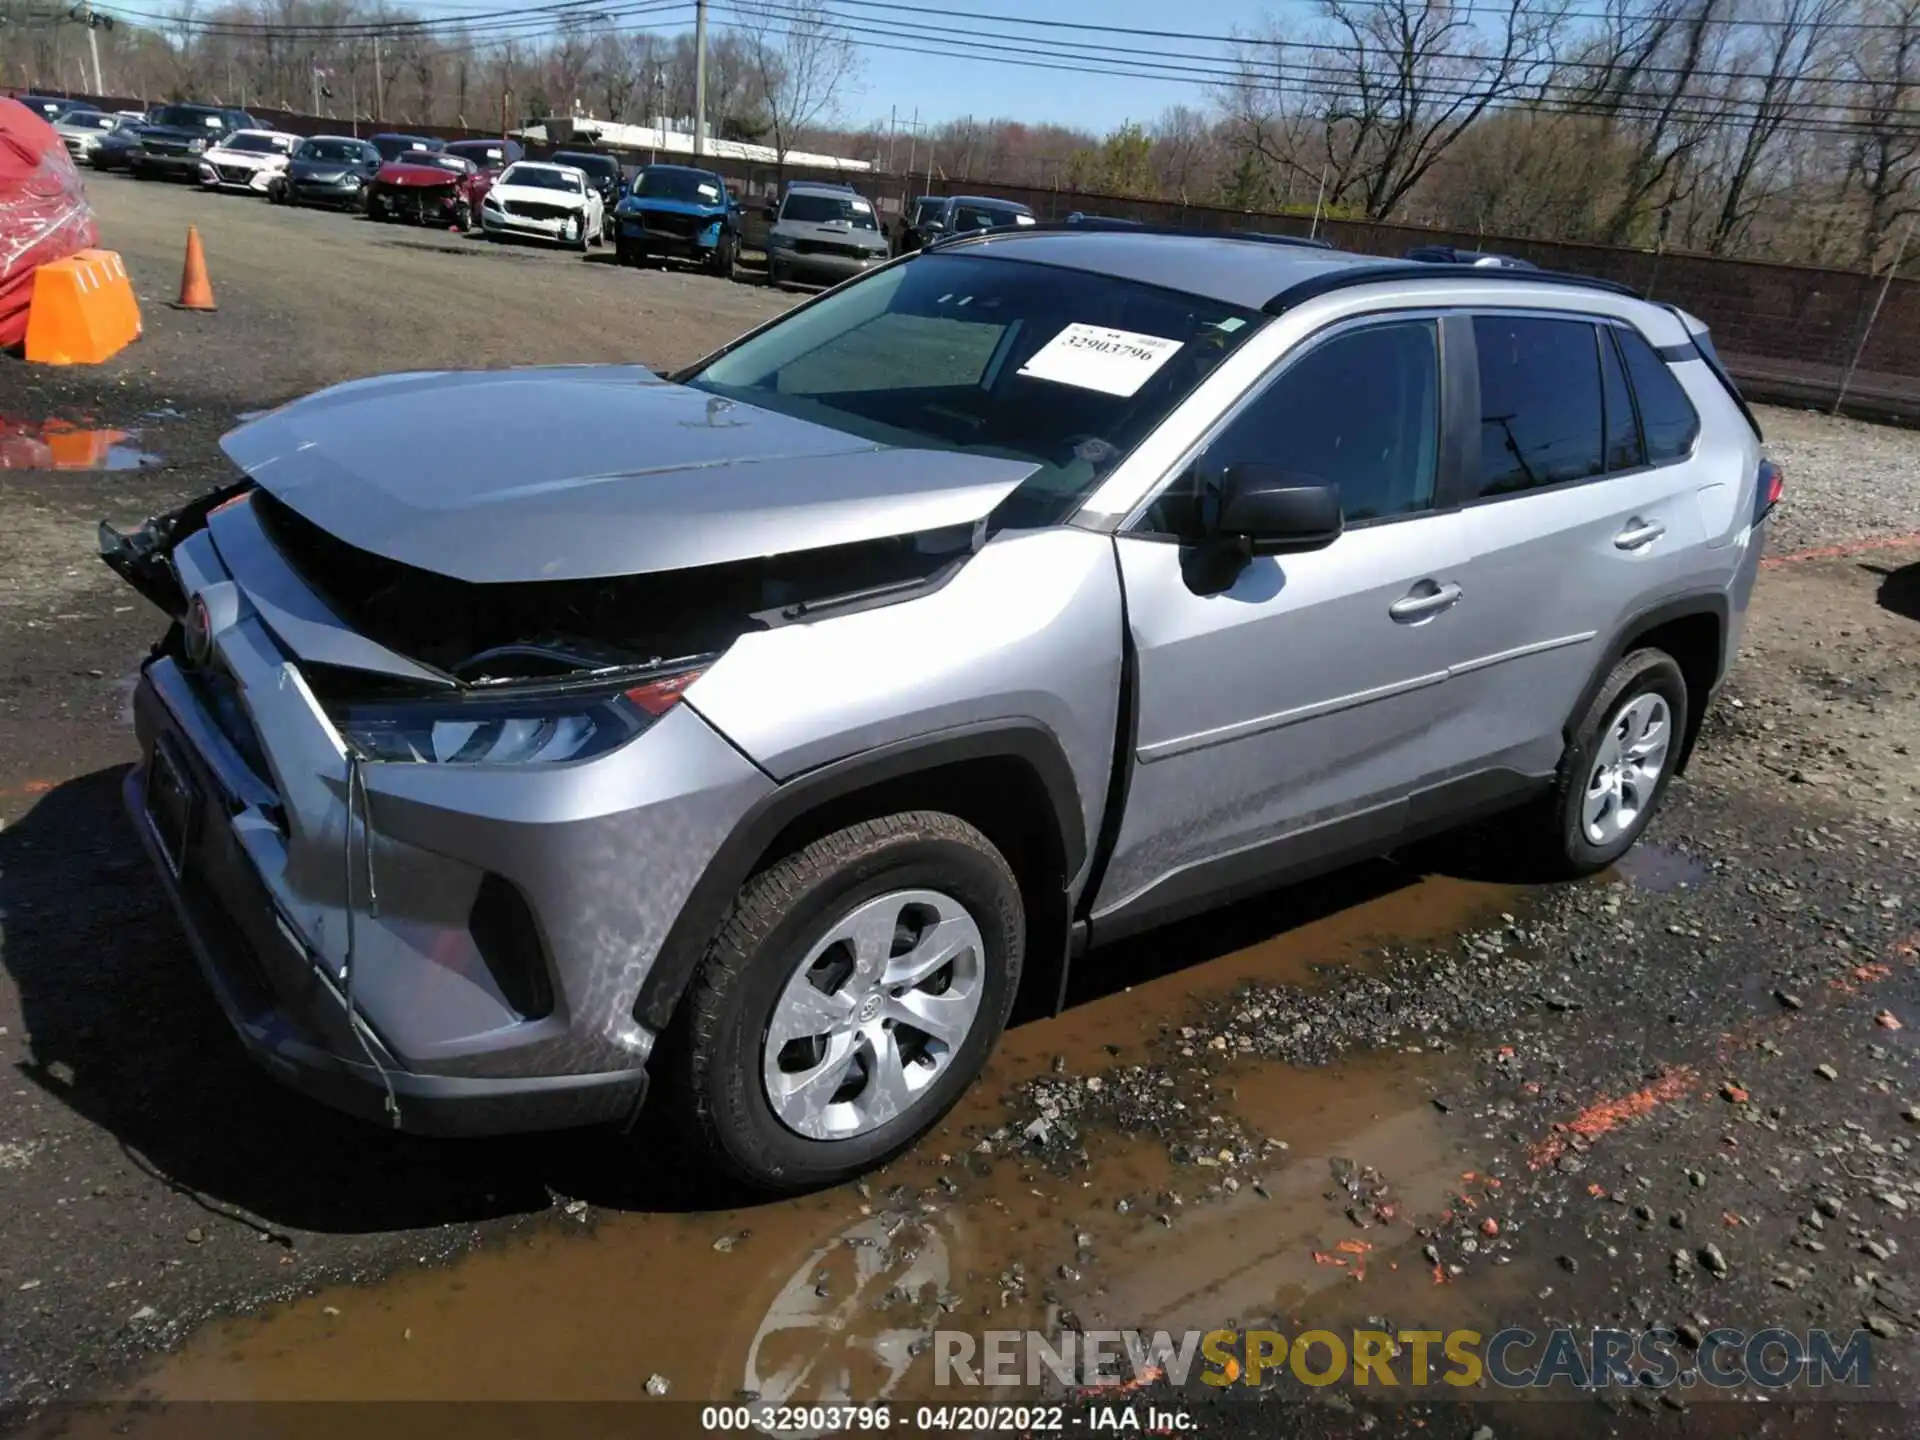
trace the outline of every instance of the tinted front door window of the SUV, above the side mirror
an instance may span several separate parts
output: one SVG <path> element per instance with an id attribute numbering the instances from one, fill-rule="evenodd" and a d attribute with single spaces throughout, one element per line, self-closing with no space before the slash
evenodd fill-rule
<path id="1" fill-rule="evenodd" d="M 1148 511 L 1146 528 L 1204 534 L 1202 492 L 1240 463 L 1302 484 L 1334 484 L 1348 524 L 1432 505 L 1440 440 L 1440 348 L 1432 321 L 1371 324 L 1288 365 L 1208 445 L 1194 474 Z"/>

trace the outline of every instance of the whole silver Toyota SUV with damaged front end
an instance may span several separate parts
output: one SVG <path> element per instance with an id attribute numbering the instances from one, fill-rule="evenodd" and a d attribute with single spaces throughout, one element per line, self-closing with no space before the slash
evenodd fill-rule
<path id="1" fill-rule="evenodd" d="M 1674 309 L 1144 228 L 225 451 L 102 549 L 175 616 L 127 803 L 248 1048 L 428 1133 L 651 1087 L 770 1188 L 1144 925 L 1496 810 L 1607 866 L 1780 493 Z"/>

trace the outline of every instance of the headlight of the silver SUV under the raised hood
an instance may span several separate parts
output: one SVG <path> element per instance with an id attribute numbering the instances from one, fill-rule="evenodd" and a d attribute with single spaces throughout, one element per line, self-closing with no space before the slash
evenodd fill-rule
<path id="1" fill-rule="evenodd" d="M 363 760 L 415 764 L 557 764 L 591 760 L 639 735 L 680 703 L 705 664 L 626 689 L 515 687 L 455 701 L 344 705 L 330 712 Z"/>

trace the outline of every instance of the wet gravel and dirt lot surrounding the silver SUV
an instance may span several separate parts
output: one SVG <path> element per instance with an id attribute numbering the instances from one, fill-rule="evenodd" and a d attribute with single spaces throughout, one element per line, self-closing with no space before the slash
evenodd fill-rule
<path id="1" fill-rule="evenodd" d="M 1693 770 L 1619 874 L 1528 887 L 1492 826 L 1142 937 L 912 1156 L 739 1210 L 653 1135 L 430 1144 L 253 1071 L 119 816 L 157 628 L 90 545 L 100 515 L 223 478 L 238 413 L 319 384 L 678 363 L 791 298 L 94 190 L 148 336 L 98 372 L 0 361 L 0 417 L 134 430 L 163 465 L 0 482 L 0 1428 L 88 1432 L 42 1409 L 71 1398 L 643 1400 L 660 1377 L 726 1400 L 803 1350 L 816 1380 L 872 1375 L 937 1325 L 1386 1319 L 1872 1327 L 1882 1405 L 1156 1394 L 1206 1434 L 1916 1432 L 1920 543 L 1889 540 L 1920 524 L 1920 434 L 1763 415 L 1774 555 L 1868 543 L 1763 572 Z M 190 221 L 211 317 L 159 303 Z"/>

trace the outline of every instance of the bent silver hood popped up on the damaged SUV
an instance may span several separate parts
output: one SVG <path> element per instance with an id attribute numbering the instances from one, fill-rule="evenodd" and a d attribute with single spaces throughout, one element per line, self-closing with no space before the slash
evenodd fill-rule
<path id="1" fill-rule="evenodd" d="M 879 445 L 637 365 L 353 380 L 221 447 L 338 540 L 476 584 L 682 570 L 968 524 L 1035 468 Z"/>

